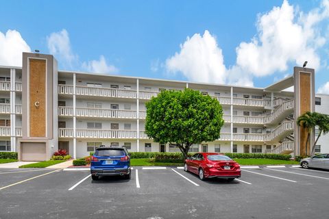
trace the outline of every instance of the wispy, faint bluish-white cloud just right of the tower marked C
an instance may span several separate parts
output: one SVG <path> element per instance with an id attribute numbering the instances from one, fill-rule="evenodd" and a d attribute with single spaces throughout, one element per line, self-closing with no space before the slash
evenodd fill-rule
<path id="1" fill-rule="evenodd" d="M 69 33 L 66 29 L 47 36 L 47 46 L 49 53 L 56 56 L 66 67 L 73 68 L 73 62 L 76 62 L 78 57 L 71 49 Z"/>

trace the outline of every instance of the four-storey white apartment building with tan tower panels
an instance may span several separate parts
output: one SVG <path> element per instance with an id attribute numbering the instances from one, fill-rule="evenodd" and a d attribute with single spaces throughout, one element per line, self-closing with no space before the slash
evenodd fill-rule
<path id="1" fill-rule="evenodd" d="M 295 92 L 284 89 L 295 86 Z M 225 124 L 214 142 L 191 151 L 302 154 L 305 130 L 295 118 L 305 111 L 326 113 L 329 96 L 314 93 L 314 70 L 267 88 L 169 81 L 121 75 L 57 70 L 52 55 L 23 53 L 23 68 L 0 67 L 0 151 L 18 151 L 19 159 L 49 159 L 58 149 L 84 157 L 100 144 L 129 151 L 179 151 L 145 132 L 145 103 L 162 90 L 199 90 L 217 99 Z M 328 136 L 317 152 L 329 152 Z M 314 135 L 312 138 L 314 141 Z"/>

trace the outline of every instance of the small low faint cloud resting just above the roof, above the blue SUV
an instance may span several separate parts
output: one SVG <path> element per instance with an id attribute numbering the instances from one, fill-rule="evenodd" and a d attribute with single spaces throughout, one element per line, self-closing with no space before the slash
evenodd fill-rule
<path id="1" fill-rule="evenodd" d="M 106 59 L 103 55 L 99 57 L 99 60 L 92 60 L 88 63 L 84 62 L 82 68 L 92 73 L 117 73 L 118 69 L 106 63 Z"/>

